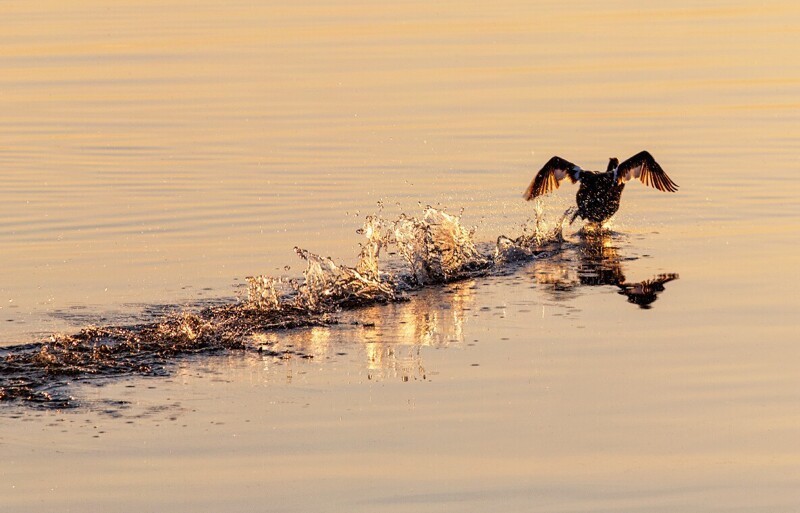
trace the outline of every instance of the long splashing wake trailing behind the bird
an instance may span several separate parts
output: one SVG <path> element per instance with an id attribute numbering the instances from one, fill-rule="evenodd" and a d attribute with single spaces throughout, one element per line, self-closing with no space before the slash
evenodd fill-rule
<path id="1" fill-rule="evenodd" d="M 565 214 L 566 216 L 566 214 Z M 247 299 L 237 304 L 183 313 L 137 326 L 90 326 L 73 335 L 0 349 L 0 400 L 22 400 L 47 407 L 70 407 L 72 381 L 125 375 L 164 375 L 176 356 L 230 349 L 258 350 L 275 357 L 308 357 L 272 351 L 254 342 L 264 331 L 336 322 L 342 309 L 401 301 L 422 287 L 487 274 L 506 264 L 555 251 L 562 241 L 562 217 L 547 225 L 537 210 L 522 235 L 500 236 L 493 251 L 481 252 L 474 229 L 460 215 L 432 207 L 420 217 L 395 221 L 368 216 L 354 267 L 295 248 L 306 262 L 301 279 L 247 278 Z M 381 266 L 392 247 L 398 261 Z M 391 271 L 389 269 L 392 269 Z"/>

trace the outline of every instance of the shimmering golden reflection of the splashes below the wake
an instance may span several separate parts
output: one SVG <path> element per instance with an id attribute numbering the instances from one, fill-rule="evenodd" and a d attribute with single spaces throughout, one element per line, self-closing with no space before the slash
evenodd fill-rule
<path id="1" fill-rule="evenodd" d="M 286 382 L 291 382 L 301 367 L 292 363 L 294 359 L 342 358 L 361 360 L 368 380 L 427 380 L 421 348 L 464 344 L 464 324 L 475 301 L 474 287 L 474 281 L 467 280 L 421 290 L 407 302 L 342 312 L 335 326 L 267 332 L 256 335 L 254 342 L 296 355 L 282 358 L 280 363 L 268 354 L 262 357 L 267 367 L 283 373 Z"/>

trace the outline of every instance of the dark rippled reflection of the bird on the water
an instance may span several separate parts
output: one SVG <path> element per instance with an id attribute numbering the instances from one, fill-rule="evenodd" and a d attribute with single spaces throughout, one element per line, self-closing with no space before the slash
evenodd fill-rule
<path id="1" fill-rule="evenodd" d="M 584 286 L 610 285 L 628 298 L 629 303 L 649 309 L 664 284 L 678 279 L 674 273 L 659 274 L 653 278 L 629 282 L 623 270 L 624 262 L 635 260 L 620 255 L 613 232 L 605 229 L 586 229 L 578 233 L 578 242 L 572 248 L 534 264 L 538 283 L 551 285 L 555 299 L 567 300 L 579 294 Z"/>

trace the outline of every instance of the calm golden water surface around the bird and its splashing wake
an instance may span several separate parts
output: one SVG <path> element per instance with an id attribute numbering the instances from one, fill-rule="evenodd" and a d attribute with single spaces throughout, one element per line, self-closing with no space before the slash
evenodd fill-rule
<path id="1" fill-rule="evenodd" d="M 502 272 L 264 332 L 267 352 L 79 380 L 70 412 L 3 403 L 0 510 L 800 503 L 795 4 L 5 2 L 0 19 L 5 347 L 224 311 L 247 277 L 291 291 L 294 247 L 357 269 L 379 211 L 463 209 L 493 257 L 554 154 L 604 169 L 647 149 L 681 186 L 631 183 L 599 239 L 567 228 Z M 574 192 L 545 199 L 551 221 Z"/>

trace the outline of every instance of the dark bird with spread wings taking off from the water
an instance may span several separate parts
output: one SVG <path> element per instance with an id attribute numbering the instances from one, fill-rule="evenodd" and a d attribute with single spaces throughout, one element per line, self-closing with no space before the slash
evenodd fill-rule
<path id="1" fill-rule="evenodd" d="M 579 216 L 600 225 L 608 221 L 619 210 L 619 200 L 625 183 L 634 178 L 660 191 L 678 190 L 678 185 L 667 176 L 653 156 L 647 151 L 640 151 L 621 164 L 616 157 L 610 158 L 605 172 L 587 171 L 555 156 L 536 173 L 522 197 L 530 201 L 547 194 L 558 189 L 567 178 L 572 183 L 581 183 L 575 197 L 578 209 L 572 212 L 570 223 Z"/>

